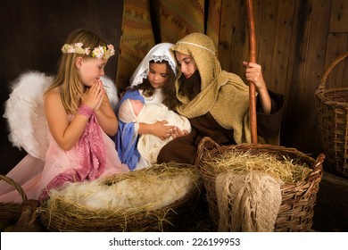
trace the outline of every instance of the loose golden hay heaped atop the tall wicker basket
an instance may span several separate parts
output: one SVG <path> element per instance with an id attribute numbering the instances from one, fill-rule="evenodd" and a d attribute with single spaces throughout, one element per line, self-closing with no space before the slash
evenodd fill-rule
<path id="1" fill-rule="evenodd" d="M 299 159 L 300 160 L 300 159 Z M 276 154 L 252 154 L 251 151 L 228 151 L 210 159 L 205 159 L 204 164 L 211 166 L 215 174 L 226 171 L 235 173 L 260 171 L 269 174 L 283 184 L 295 184 L 304 180 L 311 168 L 306 163 L 283 156 L 279 159 Z"/>

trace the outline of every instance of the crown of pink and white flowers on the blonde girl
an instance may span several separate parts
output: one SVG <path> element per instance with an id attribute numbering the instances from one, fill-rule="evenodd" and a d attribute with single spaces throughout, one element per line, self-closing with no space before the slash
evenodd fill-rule
<path id="1" fill-rule="evenodd" d="M 82 43 L 75 43 L 72 45 L 65 44 L 62 46 L 62 53 L 63 54 L 87 54 L 91 55 L 92 57 L 98 58 L 98 59 L 109 59 L 112 55 L 115 54 L 115 49 L 112 45 L 108 46 L 97 46 L 93 50 L 91 50 L 89 47 L 82 47 Z M 92 51 L 92 52 L 91 52 Z"/>

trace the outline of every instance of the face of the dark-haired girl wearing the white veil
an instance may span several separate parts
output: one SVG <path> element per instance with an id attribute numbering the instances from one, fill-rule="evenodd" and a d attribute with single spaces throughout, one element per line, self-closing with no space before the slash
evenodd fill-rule
<path id="1" fill-rule="evenodd" d="M 166 63 L 150 63 L 147 79 L 153 88 L 162 88 L 169 77 Z"/>

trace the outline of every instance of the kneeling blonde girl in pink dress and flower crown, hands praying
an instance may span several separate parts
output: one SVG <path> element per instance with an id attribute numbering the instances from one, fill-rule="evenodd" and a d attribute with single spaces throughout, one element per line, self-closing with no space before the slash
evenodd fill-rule
<path id="1" fill-rule="evenodd" d="M 128 171 L 110 138 L 118 120 L 101 77 L 112 45 L 85 29 L 70 33 L 53 84 L 44 94 L 48 147 L 44 161 L 28 154 L 7 176 L 29 199 L 42 200 L 66 182 L 94 180 Z M 31 163 L 30 163 L 31 162 Z M 15 190 L 2 190 L 0 202 L 20 202 Z"/>

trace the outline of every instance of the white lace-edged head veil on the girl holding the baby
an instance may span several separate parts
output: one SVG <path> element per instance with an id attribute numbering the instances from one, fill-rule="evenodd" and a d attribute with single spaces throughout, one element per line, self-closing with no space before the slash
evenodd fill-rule
<path id="1" fill-rule="evenodd" d="M 143 79 L 147 78 L 147 73 L 149 72 L 149 62 L 162 62 L 167 61 L 170 64 L 171 69 L 174 71 L 174 74 L 177 76 L 177 64 L 175 59 L 170 54 L 170 47 L 173 44 L 170 43 L 161 43 L 153 48 L 145 55 L 143 61 L 137 66 L 137 70 L 134 71 L 133 75 L 129 79 L 131 87 L 137 86 L 143 82 Z"/>

